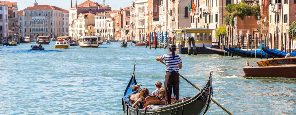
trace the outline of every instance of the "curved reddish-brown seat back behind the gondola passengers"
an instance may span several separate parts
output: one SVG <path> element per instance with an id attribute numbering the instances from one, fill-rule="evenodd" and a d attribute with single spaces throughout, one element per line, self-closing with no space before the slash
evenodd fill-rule
<path id="1" fill-rule="evenodd" d="M 143 109 L 146 108 L 148 105 L 165 105 L 165 99 L 161 100 L 156 95 L 148 95 L 144 99 Z"/>

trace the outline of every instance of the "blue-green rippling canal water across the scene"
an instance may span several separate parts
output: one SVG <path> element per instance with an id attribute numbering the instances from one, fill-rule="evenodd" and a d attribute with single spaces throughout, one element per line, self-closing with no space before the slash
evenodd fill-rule
<path id="1" fill-rule="evenodd" d="M 54 49 L 54 41 L 32 51 L 30 45 L 0 46 L 0 114 L 124 115 L 121 98 L 133 73 L 150 93 L 164 82 L 165 66 L 155 61 L 168 49 L 128 46 Z M 202 88 L 213 71 L 213 99 L 232 114 L 295 114 L 296 80 L 245 79 L 246 58 L 217 54 L 180 55 L 180 74 Z M 250 59 L 255 65 L 260 58 Z M 180 78 L 180 98 L 198 90 Z M 207 115 L 227 114 L 211 103 Z"/>

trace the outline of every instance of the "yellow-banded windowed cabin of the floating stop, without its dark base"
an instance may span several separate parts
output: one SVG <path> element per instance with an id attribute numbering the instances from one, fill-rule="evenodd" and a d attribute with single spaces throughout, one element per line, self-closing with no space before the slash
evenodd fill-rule
<path id="1" fill-rule="evenodd" d="M 175 29 L 176 33 L 176 45 L 188 47 L 188 37 L 193 37 L 196 47 L 202 47 L 203 43 L 205 46 L 212 47 L 212 32 L 213 29 L 206 28 L 188 28 L 188 29 Z"/>

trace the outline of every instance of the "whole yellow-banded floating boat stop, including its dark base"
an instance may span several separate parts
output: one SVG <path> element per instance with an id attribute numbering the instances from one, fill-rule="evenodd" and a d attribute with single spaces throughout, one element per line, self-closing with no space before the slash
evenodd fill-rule
<path id="1" fill-rule="evenodd" d="M 213 29 L 186 28 L 186 29 L 175 29 L 174 31 L 176 33 L 176 45 L 177 45 L 176 53 L 187 54 L 188 51 L 190 51 L 190 54 L 193 54 L 191 47 L 195 49 L 193 47 L 195 46 L 197 54 L 212 54 L 212 52 L 203 48 L 203 43 L 205 43 L 205 46 L 207 47 L 212 47 Z M 194 41 L 192 38 L 194 39 Z M 191 46 L 192 42 L 194 42 L 194 44 L 192 44 Z"/>

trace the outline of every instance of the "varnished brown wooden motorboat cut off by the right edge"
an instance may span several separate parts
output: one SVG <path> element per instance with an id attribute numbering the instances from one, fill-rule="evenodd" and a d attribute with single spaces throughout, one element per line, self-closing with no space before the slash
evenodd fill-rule
<path id="1" fill-rule="evenodd" d="M 296 57 L 268 59 L 257 61 L 257 64 L 256 66 L 242 68 L 245 78 L 296 78 Z"/>

